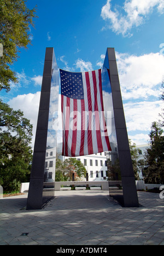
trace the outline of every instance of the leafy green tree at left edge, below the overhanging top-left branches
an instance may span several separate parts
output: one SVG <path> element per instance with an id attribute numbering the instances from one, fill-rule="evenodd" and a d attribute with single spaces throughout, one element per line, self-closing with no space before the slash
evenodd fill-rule
<path id="1" fill-rule="evenodd" d="M 0 183 L 15 190 L 30 178 L 32 125 L 20 110 L 0 100 Z"/>

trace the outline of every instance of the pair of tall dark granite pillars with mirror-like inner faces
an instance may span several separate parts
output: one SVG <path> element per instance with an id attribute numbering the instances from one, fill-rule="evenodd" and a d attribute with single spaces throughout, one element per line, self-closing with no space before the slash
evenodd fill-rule
<path id="1" fill-rule="evenodd" d="M 107 110 L 107 112 L 110 110 L 112 113 L 112 117 L 109 118 L 111 127 L 108 127 L 108 129 L 111 129 L 109 141 L 116 143 L 118 146 L 124 207 L 138 207 L 136 182 L 114 48 L 107 49 L 101 73 L 103 95 L 110 98 L 108 104 L 105 104 L 107 106 L 104 106 L 104 110 Z M 46 201 L 54 197 L 54 183 L 49 184 L 47 182 L 48 178 L 45 177 L 45 159 L 51 156 L 54 159 L 56 158 L 57 125 L 55 125 L 55 119 L 58 113 L 59 94 L 60 74 L 54 48 L 46 48 L 27 210 L 39 210 Z M 108 117 L 105 118 L 108 120 Z M 47 172 L 52 165 L 54 165 L 55 171 L 55 162 L 51 161 L 51 166 L 46 166 Z M 49 176 L 52 178 L 54 175 L 51 173 Z"/>

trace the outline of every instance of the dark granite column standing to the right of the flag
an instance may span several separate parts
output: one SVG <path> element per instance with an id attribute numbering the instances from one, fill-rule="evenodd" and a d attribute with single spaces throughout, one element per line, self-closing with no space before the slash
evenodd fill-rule
<path id="1" fill-rule="evenodd" d="M 109 77 L 112 89 L 113 110 L 116 138 L 118 142 L 118 154 L 124 195 L 124 206 L 138 207 L 138 195 L 130 153 L 130 146 L 128 142 L 126 121 L 122 104 L 120 82 L 114 48 L 107 49 L 106 60 L 104 63 L 106 63 L 106 67 L 109 68 Z"/>

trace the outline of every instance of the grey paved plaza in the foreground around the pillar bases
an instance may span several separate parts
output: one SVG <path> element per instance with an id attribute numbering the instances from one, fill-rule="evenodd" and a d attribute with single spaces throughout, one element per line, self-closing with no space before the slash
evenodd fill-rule
<path id="1" fill-rule="evenodd" d="M 0 245 L 164 245 L 164 199 L 138 197 L 141 207 L 122 208 L 108 191 L 56 191 L 35 211 L 25 210 L 27 194 L 5 197 Z"/>

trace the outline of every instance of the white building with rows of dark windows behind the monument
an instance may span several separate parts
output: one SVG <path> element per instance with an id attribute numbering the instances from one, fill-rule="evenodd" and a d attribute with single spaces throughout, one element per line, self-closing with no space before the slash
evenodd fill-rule
<path id="1" fill-rule="evenodd" d="M 118 158 L 118 148 L 114 143 L 110 143 L 112 152 L 103 152 L 94 155 L 78 156 L 76 159 L 81 161 L 87 173 L 89 174 L 89 181 L 103 181 L 108 177 L 107 159 L 110 159 L 114 164 Z M 138 145 L 139 159 L 144 159 L 145 150 L 149 147 L 148 144 Z M 65 161 L 69 157 L 62 156 L 62 143 L 57 145 L 57 154 L 60 155 L 60 159 Z M 46 159 L 45 159 L 45 174 L 44 182 L 55 181 L 55 165 L 56 165 L 56 148 L 47 147 Z M 142 178 L 142 177 L 141 177 Z"/>

